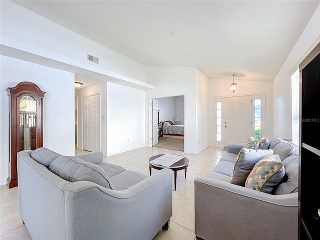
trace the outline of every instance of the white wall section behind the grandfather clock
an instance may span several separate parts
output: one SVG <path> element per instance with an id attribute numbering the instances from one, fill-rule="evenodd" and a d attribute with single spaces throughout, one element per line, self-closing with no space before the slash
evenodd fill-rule
<path id="1" fill-rule="evenodd" d="M 14 58 L 0 56 L 0 185 L 8 177 L 7 87 L 30 81 L 45 91 L 43 98 L 43 146 L 74 155 L 74 74 Z"/>

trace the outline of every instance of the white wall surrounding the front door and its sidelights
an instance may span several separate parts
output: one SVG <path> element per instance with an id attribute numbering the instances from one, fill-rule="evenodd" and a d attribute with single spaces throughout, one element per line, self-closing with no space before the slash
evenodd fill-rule
<path id="1" fill-rule="evenodd" d="M 214 146 L 213 138 L 215 137 L 215 126 L 213 112 L 213 97 L 221 96 L 238 96 L 246 94 L 258 94 L 265 92 L 266 98 L 266 129 L 265 136 L 269 139 L 273 137 L 273 94 L 272 82 L 263 81 L 247 81 L 239 80 L 235 77 L 234 82 L 237 83 L 237 88 L 234 93 L 230 91 L 230 84 L 232 83 L 232 76 L 230 79 L 215 79 L 208 80 L 208 145 Z M 291 109 L 291 108 L 290 108 Z"/>

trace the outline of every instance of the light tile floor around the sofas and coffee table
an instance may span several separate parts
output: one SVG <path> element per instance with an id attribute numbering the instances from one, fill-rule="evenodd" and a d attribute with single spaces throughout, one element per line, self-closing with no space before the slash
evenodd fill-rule
<path id="1" fill-rule="evenodd" d="M 75 149 L 75 155 L 87 151 Z M 211 172 L 224 154 L 223 148 L 207 147 L 198 154 L 157 147 L 141 147 L 131 151 L 104 157 L 103 161 L 114 163 L 127 169 L 149 174 L 148 158 L 152 155 L 174 153 L 189 159 L 186 178 L 184 170 L 177 172 L 176 190 L 172 181 L 172 217 L 169 229 L 159 230 L 153 240 L 174 239 L 194 240 L 194 189 L 193 180 Z M 152 174 L 158 170 L 152 168 Z M 173 172 L 172 172 L 173 174 Z M 0 239 L 31 239 L 18 212 L 17 187 L 0 186 Z M 140 240 L 140 239 L 139 239 Z"/>

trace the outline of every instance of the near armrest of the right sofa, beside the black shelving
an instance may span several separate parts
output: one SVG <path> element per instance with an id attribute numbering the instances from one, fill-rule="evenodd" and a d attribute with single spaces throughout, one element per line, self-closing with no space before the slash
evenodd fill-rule
<path id="1" fill-rule="evenodd" d="M 194 213 L 195 235 L 203 239 L 297 239 L 297 192 L 271 195 L 196 177 Z"/>

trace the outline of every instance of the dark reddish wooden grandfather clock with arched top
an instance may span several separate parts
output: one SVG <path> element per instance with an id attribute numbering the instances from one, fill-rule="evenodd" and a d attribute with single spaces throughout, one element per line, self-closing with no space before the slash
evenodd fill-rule
<path id="1" fill-rule="evenodd" d="M 42 91 L 36 84 L 22 81 L 5 89 L 9 96 L 9 188 L 18 185 L 17 157 L 21 150 L 34 150 L 43 144 Z"/>

